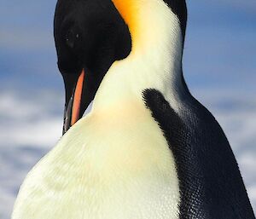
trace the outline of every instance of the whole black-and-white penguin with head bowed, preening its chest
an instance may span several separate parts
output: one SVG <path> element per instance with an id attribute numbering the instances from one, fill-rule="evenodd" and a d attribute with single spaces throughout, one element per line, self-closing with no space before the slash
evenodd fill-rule
<path id="1" fill-rule="evenodd" d="M 223 130 L 184 82 L 186 20 L 185 0 L 58 1 L 65 135 L 13 219 L 255 218 Z"/>

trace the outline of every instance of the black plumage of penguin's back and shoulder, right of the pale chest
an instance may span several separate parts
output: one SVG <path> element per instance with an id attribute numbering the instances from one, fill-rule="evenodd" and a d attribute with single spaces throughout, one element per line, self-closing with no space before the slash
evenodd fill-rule
<path id="1" fill-rule="evenodd" d="M 255 219 L 230 144 L 212 114 L 186 94 L 175 112 L 160 91 L 143 92 L 177 164 L 180 219 Z"/>

